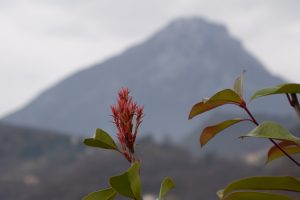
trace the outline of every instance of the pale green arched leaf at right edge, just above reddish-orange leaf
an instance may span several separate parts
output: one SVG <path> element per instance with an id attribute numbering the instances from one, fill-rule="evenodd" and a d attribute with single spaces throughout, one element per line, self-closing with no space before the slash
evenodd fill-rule
<path id="1" fill-rule="evenodd" d="M 300 144 L 300 138 L 291 134 L 286 128 L 271 121 L 265 121 L 259 126 L 254 128 L 250 133 L 244 137 L 257 137 L 257 138 L 272 138 L 276 140 L 288 140 Z"/>

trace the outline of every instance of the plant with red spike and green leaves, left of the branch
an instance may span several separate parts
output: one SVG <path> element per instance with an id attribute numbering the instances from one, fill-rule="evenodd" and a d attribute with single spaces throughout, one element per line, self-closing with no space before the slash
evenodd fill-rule
<path id="1" fill-rule="evenodd" d="M 99 128 L 96 129 L 93 138 L 84 140 L 84 144 L 87 146 L 117 151 L 125 157 L 131 166 L 124 173 L 111 177 L 109 188 L 93 192 L 84 197 L 83 200 L 113 200 L 118 195 L 142 200 L 141 162 L 135 155 L 135 140 L 138 128 L 142 123 L 143 109 L 143 106 L 133 102 L 129 90 L 122 88 L 118 93 L 117 104 L 111 106 L 121 148 L 107 132 Z M 169 177 L 165 178 L 161 185 L 159 200 L 163 200 L 169 190 L 174 187 L 174 182 Z"/>

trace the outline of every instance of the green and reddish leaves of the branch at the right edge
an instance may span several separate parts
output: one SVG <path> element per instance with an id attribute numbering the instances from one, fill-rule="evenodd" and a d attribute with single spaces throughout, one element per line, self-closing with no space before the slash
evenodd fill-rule
<path id="1" fill-rule="evenodd" d="M 243 98 L 243 76 L 244 72 L 235 80 L 233 89 L 221 90 L 214 94 L 211 98 L 204 99 L 192 107 L 189 119 L 225 104 L 239 106 L 249 116 L 249 118 L 225 120 L 216 125 L 204 128 L 200 134 L 201 146 L 204 146 L 224 129 L 240 122 L 248 121 L 255 124 L 257 127 L 251 130 L 248 134 L 241 136 L 241 138 L 267 138 L 274 144 L 274 146 L 272 146 L 268 151 L 266 163 L 280 157 L 287 156 L 295 165 L 300 167 L 300 163 L 291 156 L 292 154 L 300 153 L 300 138 L 294 136 L 278 123 L 264 121 L 259 124 L 257 122 Z M 297 93 L 300 93 L 300 84 L 282 84 L 255 92 L 251 97 L 251 101 L 263 96 L 284 94 L 287 96 L 290 105 L 295 109 L 297 115 L 300 116 L 300 106 L 296 95 Z M 217 192 L 217 195 L 219 199 L 222 200 L 292 199 L 292 197 L 284 191 L 292 191 L 300 196 L 300 179 L 294 177 L 250 177 L 229 184 L 225 189 Z"/>

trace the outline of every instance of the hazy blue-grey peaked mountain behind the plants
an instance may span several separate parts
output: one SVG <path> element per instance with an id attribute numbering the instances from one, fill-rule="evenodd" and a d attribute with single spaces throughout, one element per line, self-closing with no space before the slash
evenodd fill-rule
<path id="1" fill-rule="evenodd" d="M 224 26 L 197 17 L 181 18 L 120 55 L 56 83 L 3 121 L 73 135 L 91 135 L 97 127 L 113 132 L 110 105 L 121 87 L 129 87 L 145 106 L 142 134 L 178 140 L 200 123 L 187 120 L 191 106 L 231 87 L 243 69 L 247 97 L 284 82 L 266 71 Z M 254 110 L 286 114 L 286 107 L 279 106 L 283 100 L 257 100 Z"/>

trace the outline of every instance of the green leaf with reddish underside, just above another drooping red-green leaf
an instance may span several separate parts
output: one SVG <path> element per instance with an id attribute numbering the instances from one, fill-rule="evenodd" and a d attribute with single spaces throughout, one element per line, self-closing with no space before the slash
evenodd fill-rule
<path id="1" fill-rule="evenodd" d="M 232 89 L 225 89 L 217 92 L 211 98 L 204 99 L 201 102 L 195 104 L 190 111 L 189 119 L 192 119 L 193 117 L 201 113 L 222 106 L 224 104 L 241 105 L 242 103 L 243 100 L 235 91 L 233 91 Z"/>

